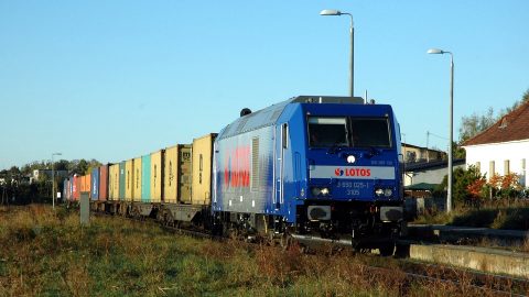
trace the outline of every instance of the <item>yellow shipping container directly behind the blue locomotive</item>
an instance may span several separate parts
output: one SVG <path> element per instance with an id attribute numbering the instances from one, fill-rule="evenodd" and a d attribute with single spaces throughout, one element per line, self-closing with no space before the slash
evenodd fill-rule
<path id="1" fill-rule="evenodd" d="M 212 133 L 193 140 L 192 205 L 208 205 L 212 199 L 213 142 L 216 135 Z"/>

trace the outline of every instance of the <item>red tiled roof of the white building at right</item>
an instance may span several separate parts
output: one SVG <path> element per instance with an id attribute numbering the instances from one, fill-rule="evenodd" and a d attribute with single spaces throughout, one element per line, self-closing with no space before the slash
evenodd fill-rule
<path id="1" fill-rule="evenodd" d="M 465 141 L 463 146 L 529 140 L 529 101 L 506 114 L 487 130 Z"/>

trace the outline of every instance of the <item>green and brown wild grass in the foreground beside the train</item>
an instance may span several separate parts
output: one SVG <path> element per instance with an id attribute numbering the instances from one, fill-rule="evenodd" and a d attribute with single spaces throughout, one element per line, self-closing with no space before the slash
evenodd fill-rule
<path id="1" fill-rule="evenodd" d="M 213 242 L 152 223 L 48 207 L 0 208 L 0 296 L 422 296 L 398 262 Z M 370 272 L 365 264 L 388 267 Z M 443 294 L 438 296 L 443 296 Z M 427 294 L 428 295 L 428 294 Z M 435 294 L 434 294 L 435 296 Z M 466 295 L 468 296 L 468 295 Z"/>

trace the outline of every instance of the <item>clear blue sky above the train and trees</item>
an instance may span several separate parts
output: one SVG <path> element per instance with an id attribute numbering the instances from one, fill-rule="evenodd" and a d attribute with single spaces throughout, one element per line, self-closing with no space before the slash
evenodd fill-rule
<path id="1" fill-rule="evenodd" d="M 529 88 L 529 1 L 0 0 L 0 169 L 118 162 L 217 132 L 248 107 L 348 94 L 392 105 L 406 142 Z M 430 146 L 447 141 L 431 136 Z"/>

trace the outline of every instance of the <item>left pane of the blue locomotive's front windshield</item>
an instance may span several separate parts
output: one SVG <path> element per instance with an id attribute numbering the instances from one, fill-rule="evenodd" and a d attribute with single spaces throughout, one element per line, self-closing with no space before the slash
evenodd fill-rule
<path id="1" fill-rule="evenodd" d="M 309 118 L 309 143 L 313 147 L 348 146 L 346 118 Z"/>

